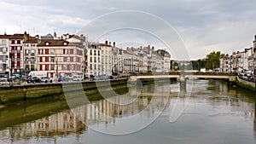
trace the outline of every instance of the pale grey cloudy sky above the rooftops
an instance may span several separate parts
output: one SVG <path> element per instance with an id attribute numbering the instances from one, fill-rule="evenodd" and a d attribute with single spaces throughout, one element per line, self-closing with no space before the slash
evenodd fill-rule
<path id="1" fill-rule="evenodd" d="M 194 60 L 251 47 L 255 8 L 255 0 L 0 0 L 0 33 L 84 33 L 90 41 L 150 44 Z"/>

